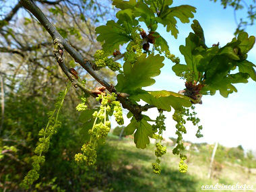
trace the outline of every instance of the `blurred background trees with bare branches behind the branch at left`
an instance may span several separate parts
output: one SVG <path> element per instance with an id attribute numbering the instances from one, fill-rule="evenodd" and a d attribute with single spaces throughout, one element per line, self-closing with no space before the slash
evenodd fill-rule
<path id="1" fill-rule="evenodd" d="M 1 88 L 4 88 L 5 103 L 1 104 L 5 110 L 1 110 L 1 149 L 5 152 L 1 156 L 1 187 L 5 190 L 17 190 L 19 183 L 30 167 L 30 157 L 38 141 L 38 131 L 46 123 L 46 112 L 54 107 L 57 93 L 67 84 L 65 74 L 56 65 L 53 54 L 53 40 L 44 28 L 26 11 L 19 1 L 1 1 L 0 21 L 0 68 Z M 111 18 L 113 9 L 108 1 L 38 1 L 43 7 L 44 13 L 55 24 L 64 37 L 69 36 L 72 46 L 86 57 L 93 59 L 92 55 L 100 44 L 96 42 L 94 25 L 100 20 Z M 14 5 L 14 6 L 13 6 Z M 65 62 L 77 70 L 79 76 L 87 79 L 88 87 L 94 88 L 98 82 L 94 81 L 86 71 L 76 67 L 71 57 L 65 57 Z M 110 82 L 115 73 L 109 69 L 99 71 L 102 77 Z M 65 110 L 61 115 L 63 128 L 60 137 L 53 140 L 59 143 L 56 146 L 53 157 L 49 159 L 49 168 L 42 174 L 42 183 L 38 189 L 51 189 L 55 183 L 51 182 L 55 177 L 61 178 L 61 174 L 69 174 L 73 162 L 67 158 L 75 148 L 79 150 L 82 143 L 82 135 L 77 129 L 82 126 L 77 122 L 77 102 L 82 92 L 71 90 L 65 102 Z M 3 101 L 3 99 L 2 99 Z M 93 107 L 95 100 L 88 100 L 88 106 Z M 71 120 L 72 119 L 72 120 Z M 4 146 L 16 146 L 18 151 L 5 150 Z M 56 158 L 65 154 L 66 158 Z M 11 158 L 10 158 L 11 157 Z M 64 161 L 64 162 L 63 162 Z M 51 166 L 55 164 L 55 166 Z M 57 167 L 66 170 L 58 172 Z M 46 165 L 47 167 L 47 165 Z M 77 170 L 78 171 L 78 170 Z M 84 169 L 80 174 L 88 170 Z M 75 173 L 76 174 L 76 173 Z M 44 175 L 44 176 L 43 176 Z M 69 180 L 69 179 L 68 179 Z M 58 183 L 60 181 L 58 180 Z M 66 181 L 64 181 L 66 182 Z M 77 182 L 77 181 L 75 181 Z M 74 184 L 77 190 L 82 187 Z"/>

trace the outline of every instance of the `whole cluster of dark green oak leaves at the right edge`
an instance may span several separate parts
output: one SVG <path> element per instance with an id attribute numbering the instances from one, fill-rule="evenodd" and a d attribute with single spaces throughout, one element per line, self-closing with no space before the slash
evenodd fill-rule
<path id="1" fill-rule="evenodd" d="M 176 75 L 182 76 L 185 71 L 193 72 L 195 80 L 201 79 L 205 84 L 202 94 L 215 94 L 219 90 L 224 97 L 237 91 L 232 84 L 246 83 L 249 77 L 256 80 L 255 65 L 245 60 L 255 43 L 254 36 L 249 37 L 242 32 L 222 48 L 213 46 L 208 49 L 199 22 L 194 20 L 191 28 L 195 33 L 190 33 L 185 46 L 180 46 L 186 65 L 174 65 L 172 70 Z M 236 67 L 241 73 L 230 74 Z"/>

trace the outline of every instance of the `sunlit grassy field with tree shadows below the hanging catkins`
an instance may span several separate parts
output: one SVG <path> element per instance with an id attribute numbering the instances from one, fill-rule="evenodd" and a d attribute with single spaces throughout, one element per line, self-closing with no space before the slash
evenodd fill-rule
<path id="1" fill-rule="evenodd" d="M 132 139 L 119 141 L 110 136 L 107 148 L 102 153 L 111 153 L 112 174 L 106 176 L 110 191 L 201 191 L 201 185 L 236 185 L 236 183 L 256 187 L 255 169 L 245 168 L 228 160 L 214 165 L 212 179 L 207 179 L 212 149 L 203 152 L 188 152 L 187 173 L 179 172 L 179 157 L 172 154 L 172 147 L 162 157 L 162 172 L 158 176 L 152 172 L 154 145 L 138 150 Z M 256 162 L 255 162 L 256 163 Z M 235 191 L 235 190 L 234 190 Z"/>

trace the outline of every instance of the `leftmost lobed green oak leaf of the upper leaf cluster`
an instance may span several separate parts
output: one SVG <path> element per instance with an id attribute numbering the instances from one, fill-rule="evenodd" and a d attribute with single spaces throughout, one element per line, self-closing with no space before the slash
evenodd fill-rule
<path id="1" fill-rule="evenodd" d="M 106 53 L 113 53 L 115 49 L 119 49 L 122 45 L 130 40 L 125 28 L 110 20 L 106 26 L 96 28 L 96 34 L 99 34 L 97 40 L 103 42 L 102 48 Z"/>

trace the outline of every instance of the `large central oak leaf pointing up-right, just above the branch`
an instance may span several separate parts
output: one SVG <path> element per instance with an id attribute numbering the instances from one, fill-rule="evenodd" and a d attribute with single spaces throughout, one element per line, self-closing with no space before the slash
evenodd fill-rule
<path id="1" fill-rule="evenodd" d="M 123 65 L 123 74 L 117 75 L 117 90 L 131 94 L 137 88 L 151 86 L 156 81 L 152 77 L 160 74 L 160 68 L 164 66 L 164 57 L 151 54 L 146 57 L 142 54 L 132 65 L 125 62 Z"/>

